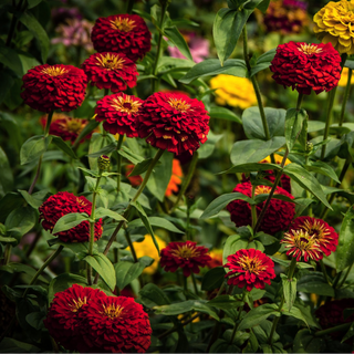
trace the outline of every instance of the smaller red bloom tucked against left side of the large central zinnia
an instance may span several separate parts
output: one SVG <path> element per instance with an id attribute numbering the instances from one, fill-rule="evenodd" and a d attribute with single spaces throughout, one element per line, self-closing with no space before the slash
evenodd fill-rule
<path id="1" fill-rule="evenodd" d="M 125 134 L 127 137 L 138 136 L 136 124 L 142 114 L 143 100 L 122 92 L 105 96 L 97 101 L 96 121 L 103 123 L 111 134 Z"/>

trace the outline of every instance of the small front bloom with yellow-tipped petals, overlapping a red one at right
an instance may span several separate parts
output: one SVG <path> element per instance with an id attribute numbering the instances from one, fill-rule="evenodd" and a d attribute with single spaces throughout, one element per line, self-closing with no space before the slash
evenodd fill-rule
<path id="1" fill-rule="evenodd" d="M 323 252 L 315 237 L 309 235 L 308 231 L 303 229 L 289 230 L 284 233 L 284 238 L 280 242 L 284 243 L 288 250 L 287 254 L 296 258 L 298 262 L 302 257 L 305 262 L 308 262 L 309 259 L 317 261 L 323 258 Z"/>

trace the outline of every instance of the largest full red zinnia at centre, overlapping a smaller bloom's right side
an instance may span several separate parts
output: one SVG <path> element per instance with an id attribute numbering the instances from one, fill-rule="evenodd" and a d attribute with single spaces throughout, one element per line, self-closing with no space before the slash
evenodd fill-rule
<path id="1" fill-rule="evenodd" d="M 137 128 L 147 143 L 180 155 L 192 154 L 207 140 L 208 123 L 202 102 L 185 94 L 157 92 L 144 102 Z"/>

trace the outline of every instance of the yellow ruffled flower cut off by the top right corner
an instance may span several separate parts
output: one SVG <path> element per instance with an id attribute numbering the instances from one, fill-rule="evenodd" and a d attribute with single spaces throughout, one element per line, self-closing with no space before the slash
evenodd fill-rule
<path id="1" fill-rule="evenodd" d="M 313 17 L 313 31 L 322 43 L 342 54 L 354 54 L 354 0 L 330 1 Z"/>

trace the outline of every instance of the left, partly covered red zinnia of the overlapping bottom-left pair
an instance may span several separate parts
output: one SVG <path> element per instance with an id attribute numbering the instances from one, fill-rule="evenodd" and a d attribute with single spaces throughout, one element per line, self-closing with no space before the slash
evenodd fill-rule
<path id="1" fill-rule="evenodd" d="M 66 350 L 76 350 L 82 341 L 81 331 L 85 320 L 85 311 L 97 299 L 106 294 L 100 289 L 83 288 L 73 284 L 71 288 L 58 292 L 43 321 L 50 335 Z"/>

